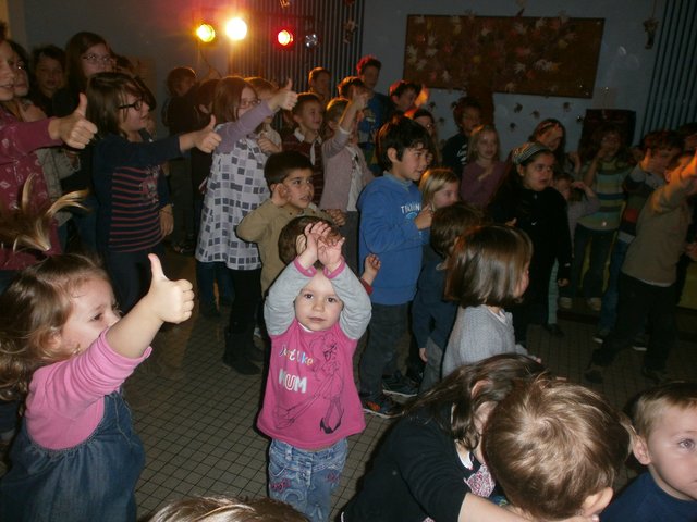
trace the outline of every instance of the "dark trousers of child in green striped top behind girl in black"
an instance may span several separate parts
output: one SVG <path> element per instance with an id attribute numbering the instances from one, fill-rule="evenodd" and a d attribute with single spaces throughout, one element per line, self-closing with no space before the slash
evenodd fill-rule
<path id="1" fill-rule="evenodd" d="M 594 231 L 583 225 L 576 225 L 574 234 L 574 260 L 571 265 L 571 282 L 568 289 L 562 291 L 565 297 L 574 297 L 582 283 L 580 273 L 586 260 L 586 250 L 590 246 L 588 270 L 583 276 L 583 295 L 586 299 L 602 296 L 606 262 L 612 248 L 614 231 Z"/>

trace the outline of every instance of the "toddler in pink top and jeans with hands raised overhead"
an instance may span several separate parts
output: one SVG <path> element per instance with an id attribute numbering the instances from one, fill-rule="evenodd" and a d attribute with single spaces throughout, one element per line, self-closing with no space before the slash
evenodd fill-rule
<path id="1" fill-rule="evenodd" d="M 272 438 L 269 496 L 310 521 L 329 520 L 346 459 L 346 437 L 365 427 L 353 355 L 370 301 L 330 226 L 305 228 L 305 249 L 269 290 L 271 359 L 257 425 Z M 314 264 L 319 261 L 323 269 Z"/>

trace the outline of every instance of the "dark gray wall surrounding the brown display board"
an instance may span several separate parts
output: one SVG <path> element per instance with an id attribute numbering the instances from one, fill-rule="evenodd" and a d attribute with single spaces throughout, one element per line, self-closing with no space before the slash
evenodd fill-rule
<path id="1" fill-rule="evenodd" d="M 521 4 L 527 7 L 524 16 L 555 16 L 563 3 L 564 13 L 571 17 L 601 17 L 606 20 L 602 47 L 596 76 L 592 99 L 557 98 L 522 95 L 494 95 L 496 125 L 501 134 L 502 150 L 526 140 L 539 119 L 557 117 L 567 129 L 567 150 L 574 150 L 580 137 L 582 124 L 577 121 L 588 108 L 628 109 L 637 112 L 637 129 L 641 127 L 649 79 L 655 61 L 655 51 L 646 50 L 646 33 L 643 22 L 650 17 L 653 0 L 420 0 L 366 2 L 363 27 L 363 49 L 365 53 L 377 55 L 382 61 L 382 72 L 378 90 L 387 92 L 388 86 L 402 77 L 406 17 L 409 14 L 464 14 L 472 10 L 481 16 L 514 16 Z M 660 17 L 664 0 L 659 0 L 657 17 Z M 389 21 L 389 23 L 387 23 Z M 461 96 L 460 91 L 431 90 L 435 113 L 444 122 L 439 134 L 441 139 L 455 133 L 451 103 Z M 514 112 L 519 103 L 523 109 Z M 568 109 L 564 104 L 568 103 Z M 511 128 L 515 124 L 515 128 Z M 639 136 L 635 136 L 635 142 Z M 504 153 L 505 153 L 504 152 Z"/>

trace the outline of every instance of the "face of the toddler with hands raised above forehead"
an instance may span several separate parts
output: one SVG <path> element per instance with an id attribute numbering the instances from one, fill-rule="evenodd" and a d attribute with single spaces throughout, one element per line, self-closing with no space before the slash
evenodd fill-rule
<path id="1" fill-rule="evenodd" d="M 295 298 L 295 318 L 307 330 L 321 332 L 337 324 L 343 307 L 331 282 L 318 272 Z"/>

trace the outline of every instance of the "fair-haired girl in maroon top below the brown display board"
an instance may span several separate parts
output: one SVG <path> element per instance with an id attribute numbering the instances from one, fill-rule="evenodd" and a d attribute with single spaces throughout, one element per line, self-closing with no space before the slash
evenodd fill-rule
<path id="1" fill-rule="evenodd" d="M 462 173 L 462 200 L 486 209 L 505 173 L 499 161 L 499 133 L 492 125 L 475 127 L 467 147 L 467 164 Z"/>

